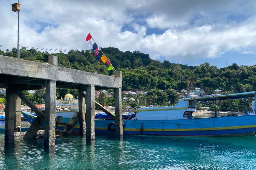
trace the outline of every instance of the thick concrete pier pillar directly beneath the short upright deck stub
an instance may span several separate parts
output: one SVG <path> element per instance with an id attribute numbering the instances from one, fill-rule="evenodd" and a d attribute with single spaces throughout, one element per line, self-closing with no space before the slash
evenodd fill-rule
<path id="1" fill-rule="evenodd" d="M 44 146 L 55 146 L 56 81 L 48 80 L 45 90 Z"/>

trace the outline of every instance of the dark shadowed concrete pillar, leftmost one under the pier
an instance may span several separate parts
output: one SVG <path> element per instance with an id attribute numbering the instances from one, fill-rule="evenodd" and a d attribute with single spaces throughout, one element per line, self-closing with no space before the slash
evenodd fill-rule
<path id="1" fill-rule="evenodd" d="M 15 115 L 16 115 L 16 95 L 15 89 L 11 85 L 6 86 L 6 101 L 5 101 L 5 145 L 14 143 L 15 130 Z"/>

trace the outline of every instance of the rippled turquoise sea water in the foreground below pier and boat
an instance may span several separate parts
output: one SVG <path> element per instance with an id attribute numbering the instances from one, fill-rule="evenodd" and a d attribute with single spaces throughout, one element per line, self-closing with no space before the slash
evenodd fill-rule
<path id="1" fill-rule="evenodd" d="M 0 169 L 256 169 L 256 136 L 168 137 L 97 135 L 57 137 L 44 149 L 43 138 L 4 147 Z"/>

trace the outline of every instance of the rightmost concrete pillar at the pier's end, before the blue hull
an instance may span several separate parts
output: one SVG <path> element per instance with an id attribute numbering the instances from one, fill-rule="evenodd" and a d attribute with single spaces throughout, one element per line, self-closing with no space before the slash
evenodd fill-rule
<path id="1" fill-rule="evenodd" d="M 122 88 L 115 88 L 116 136 L 123 136 Z"/>

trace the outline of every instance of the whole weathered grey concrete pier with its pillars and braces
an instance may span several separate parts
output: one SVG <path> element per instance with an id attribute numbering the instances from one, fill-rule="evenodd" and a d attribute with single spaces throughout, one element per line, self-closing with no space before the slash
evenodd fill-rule
<path id="1" fill-rule="evenodd" d="M 57 56 L 48 56 L 47 64 L 0 55 L 0 88 L 6 88 L 5 143 L 13 143 L 14 132 L 20 131 L 19 112 L 21 99 L 38 115 L 26 132 L 24 139 L 35 138 L 44 122 L 44 145 L 46 147 L 55 145 L 56 87 L 79 90 L 79 118 L 75 116 L 73 122 L 77 122 L 79 119 L 80 134 L 82 136 L 86 135 L 86 140 L 95 139 L 95 90 L 115 89 L 116 134 L 122 136 L 122 72 L 117 72 L 115 76 L 108 76 L 59 67 L 57 59 Z M 46 88 L 45 111 L 40 111 L 21 92 L 22 90 L 42 88 Z M 84 121 L 85 96 L 83 94 L 85 90 L 87 92 L 86 123 Z"/>

